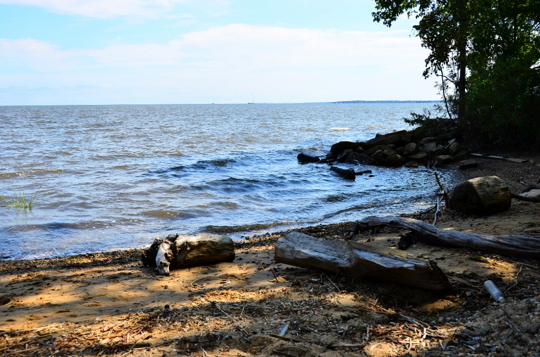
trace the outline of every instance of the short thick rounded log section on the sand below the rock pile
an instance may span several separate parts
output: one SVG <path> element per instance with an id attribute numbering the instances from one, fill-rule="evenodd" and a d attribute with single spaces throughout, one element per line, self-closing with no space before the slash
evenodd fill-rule
<path id="1" fill-rule="evenodd" d="M 506 211 L 512 198 L 508 185 L 497 176 L 477 177 L 457 185 L 450 207 L 458 212 L 488 215 Z"/>

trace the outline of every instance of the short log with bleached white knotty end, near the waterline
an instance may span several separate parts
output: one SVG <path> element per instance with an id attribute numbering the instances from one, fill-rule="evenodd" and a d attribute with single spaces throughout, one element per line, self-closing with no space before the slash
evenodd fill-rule
<path id="1" fill-rule="evenodd" d="M 146 266 L 155 266 L 159 274 L 168 275 L 170 269 L 232 262 L 234 257 L 234 243 L 230 238 L 200 233 L 157 238 L 145 249 L 141 260 Z"/>

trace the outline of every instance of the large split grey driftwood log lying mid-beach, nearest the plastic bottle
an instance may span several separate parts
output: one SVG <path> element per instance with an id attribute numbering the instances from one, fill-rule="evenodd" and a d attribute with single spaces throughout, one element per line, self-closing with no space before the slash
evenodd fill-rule
<path id="1" fill-rule="evenodd" d="M 318 268 L 351 278 L 443 291 L 452 287 L 433 261 L 424 261 L 395 249 L 343 240 L 321 240 L 292 232 L 275 244 L 275 261 L 301 268 Z"/>

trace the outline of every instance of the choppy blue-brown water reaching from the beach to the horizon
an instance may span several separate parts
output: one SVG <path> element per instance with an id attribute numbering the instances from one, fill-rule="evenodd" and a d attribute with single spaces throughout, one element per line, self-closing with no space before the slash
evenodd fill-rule
<path id="1" fill-rule="evenodd" d="M 36 194 L 31 210 L 0 208 L 0 259 L 413 211 L 435 192 L 425 168 L 358 167 L 375 177 L 348 182 L 296 155 L 407 129 L 402 117 L 432 105 L 0 107 L 0 195 Z"/>

